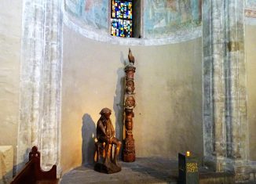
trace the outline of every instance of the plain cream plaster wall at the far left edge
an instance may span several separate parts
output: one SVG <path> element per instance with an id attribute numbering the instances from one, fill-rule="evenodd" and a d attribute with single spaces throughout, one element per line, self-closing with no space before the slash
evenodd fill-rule
<path id="1" fill-rule="evenodd" d="M 3 0 L 0 7 L 0 145 L 12 145 L 16 161 L 22 1 Z"/>

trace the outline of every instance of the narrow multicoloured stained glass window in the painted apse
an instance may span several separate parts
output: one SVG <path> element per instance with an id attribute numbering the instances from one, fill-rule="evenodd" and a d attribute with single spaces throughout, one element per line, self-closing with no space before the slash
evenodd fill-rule
<path id="1" fill-rule="evenodd" d="M 132 0 L 112 0 L 111 34 L 118 37 L 133 37 Z"/>

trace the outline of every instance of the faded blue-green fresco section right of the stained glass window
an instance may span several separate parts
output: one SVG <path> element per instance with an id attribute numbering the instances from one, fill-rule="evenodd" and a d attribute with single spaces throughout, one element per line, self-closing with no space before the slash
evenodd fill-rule
<path id="1" fill-rule="evenodd" d="M 199 0 L 147 0 L 144 1 L 143 12 L 145 38 L 166 37 L 201 23 Z"/>

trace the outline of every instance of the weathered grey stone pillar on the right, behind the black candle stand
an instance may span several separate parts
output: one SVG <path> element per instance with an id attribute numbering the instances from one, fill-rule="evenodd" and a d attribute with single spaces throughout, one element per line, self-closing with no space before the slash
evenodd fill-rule
<path id="1" fill-rule="evenodd" d="M 236 182 L 255 180 L 249 157 L 254 136 L 248 130 L 254 123 L 248 127 L 252 105 L 247 100 L 244 46 L 247 5 L 237 0 L 203 3 L 204 161 L 215 171 L 233 171 Z"/>

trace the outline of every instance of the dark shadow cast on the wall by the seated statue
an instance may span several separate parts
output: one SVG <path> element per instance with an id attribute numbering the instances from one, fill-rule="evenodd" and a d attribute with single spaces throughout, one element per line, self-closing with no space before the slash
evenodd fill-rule
<path id="1" fill-rule="evenodd" d="M 95 123 L 89 114 L 84 114 L 82 117 L 82 165 L 93 163 L 95 138 Z"/>

